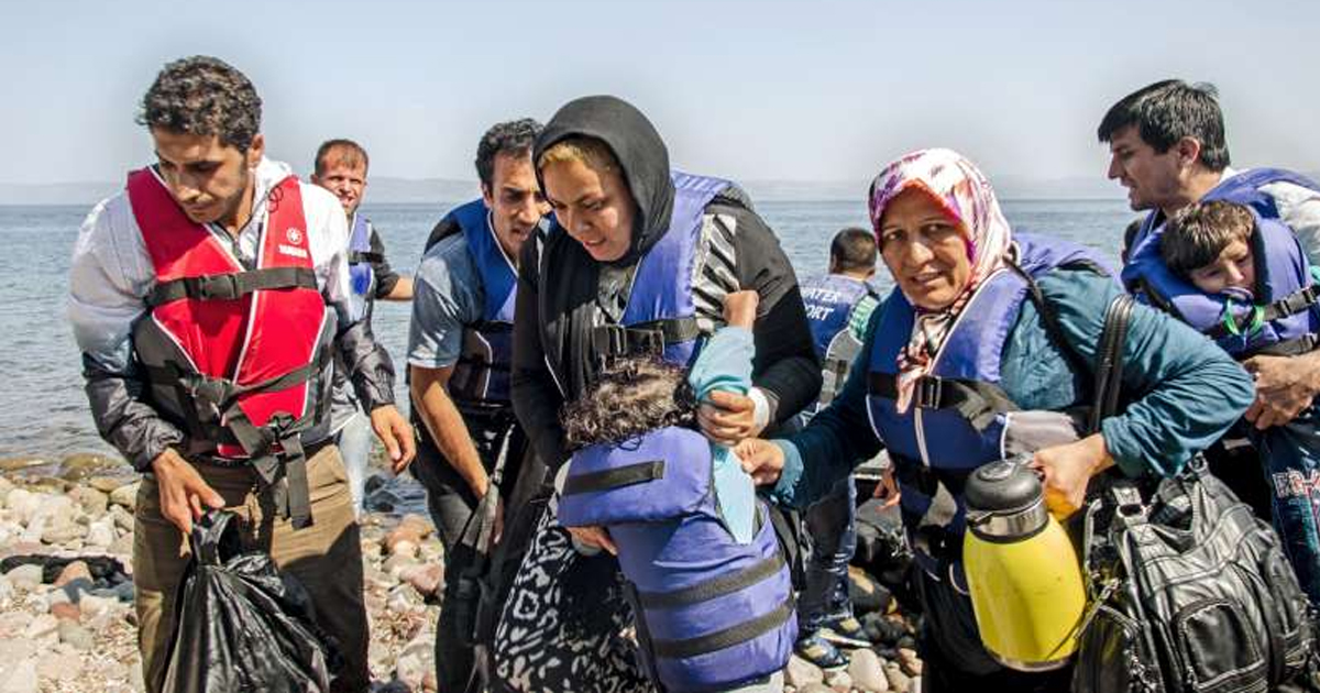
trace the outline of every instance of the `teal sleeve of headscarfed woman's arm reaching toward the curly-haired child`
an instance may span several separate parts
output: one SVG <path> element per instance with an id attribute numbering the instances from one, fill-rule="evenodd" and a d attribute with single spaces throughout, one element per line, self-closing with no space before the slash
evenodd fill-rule
<path id="1" fill-rule="evenodd" d="M 862 351 L 838 396 L 807 428 L 788 440 L 775 441 L 784 450 L 784 470 L 771 492 L 777 503 L 805 508 L 824 498 L 857 465 L 880 451 L 866 411 L 867 358 L 880 310 L 876 308 L 871 314 Z"/>

